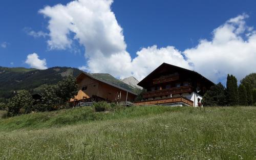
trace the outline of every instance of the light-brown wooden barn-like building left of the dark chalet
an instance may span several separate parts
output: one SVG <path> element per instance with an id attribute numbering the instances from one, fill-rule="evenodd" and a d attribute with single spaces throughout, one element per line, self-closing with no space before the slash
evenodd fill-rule
<path id="1" fill-rule="evenodd" d="M 76 78 L 78 84 L 78 94 L 71 99 L 71 103 L 83 101 L 88 102 L 92 99 L 96 101 L 134 101 L 137 94 L 123 87 L 108 81 L 93 77 L 91 74 L 82 72 Z"/>

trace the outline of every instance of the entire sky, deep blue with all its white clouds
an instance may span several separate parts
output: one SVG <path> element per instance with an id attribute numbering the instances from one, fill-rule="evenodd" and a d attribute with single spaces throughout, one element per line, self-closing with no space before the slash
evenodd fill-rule
<path id="1" fill-rule="evenodd" d="M 225 84 L 256 72 L 256 1 L 1 1 L 0 66 L 142 80 L 163 62 Z"/>

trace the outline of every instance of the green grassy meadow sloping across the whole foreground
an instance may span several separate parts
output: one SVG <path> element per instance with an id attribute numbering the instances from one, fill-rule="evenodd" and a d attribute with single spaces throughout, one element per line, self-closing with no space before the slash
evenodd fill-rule
<path id="1" fill-rule="evenodd" d="M 0 159 L 256 159 L 256 107 L 83 107 L 0 120 Z"/>

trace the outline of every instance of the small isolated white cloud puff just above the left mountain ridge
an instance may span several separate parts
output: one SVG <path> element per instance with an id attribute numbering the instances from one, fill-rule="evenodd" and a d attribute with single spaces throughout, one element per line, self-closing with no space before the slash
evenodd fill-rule
<path id="1" fill-rule="evenodd" d="M 39 56 L 36 53 L 29 54 L 25 61 L 32 68 L 37 68 L 39 70 L 46 70 L 46 59 L 39 59 Z"/>

